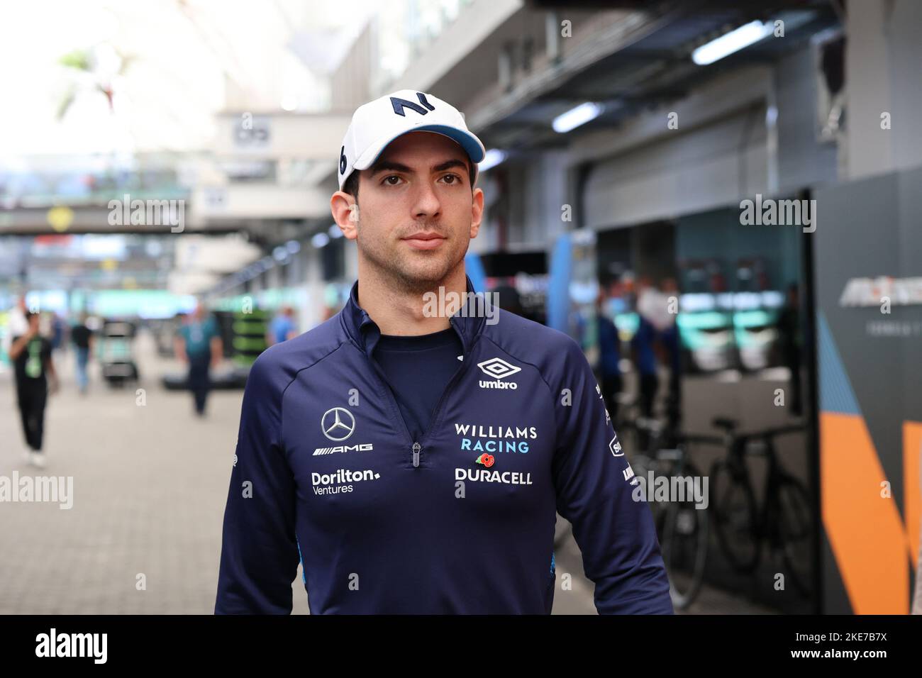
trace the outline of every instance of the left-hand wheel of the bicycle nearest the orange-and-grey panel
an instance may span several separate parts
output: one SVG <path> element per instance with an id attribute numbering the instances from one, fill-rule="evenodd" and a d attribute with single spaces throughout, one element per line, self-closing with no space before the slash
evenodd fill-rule
<path id="1" fill-rule="evenodd" d="M 759 564 L 755 495 L 745 470 L 727 459 L 711 467 L 712 519 L 717 541 L 730 565 L 751 572 Z"/>

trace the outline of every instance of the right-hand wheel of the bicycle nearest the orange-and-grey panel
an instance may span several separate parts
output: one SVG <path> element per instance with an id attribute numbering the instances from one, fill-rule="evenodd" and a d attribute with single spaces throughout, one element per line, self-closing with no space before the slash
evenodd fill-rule
<path id="1" fill-rule="evenodd" d="M 810 495 L 801 482 L 786 476 L 775 485 L 774 497 L 774 539 L 784 554 L 794 588 L 809 597 L 813 550 Z"/>

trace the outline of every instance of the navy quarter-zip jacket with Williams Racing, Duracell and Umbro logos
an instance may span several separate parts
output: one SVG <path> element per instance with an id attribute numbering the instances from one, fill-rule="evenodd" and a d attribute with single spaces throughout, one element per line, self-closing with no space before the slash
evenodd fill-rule
<path id="1" fill-rule="evenodd" d="M 672 613 L 650 509 L 578 344 L 478 303 L 449 322 L 463 360 L 419 440 L 372 360 L 381 332 L 358 282 L 337 315 L 259 356 L 215 613 L 290 613 L 299 560 L 314 614 L 550 613 L 558 512 L 599 613 Z"/>

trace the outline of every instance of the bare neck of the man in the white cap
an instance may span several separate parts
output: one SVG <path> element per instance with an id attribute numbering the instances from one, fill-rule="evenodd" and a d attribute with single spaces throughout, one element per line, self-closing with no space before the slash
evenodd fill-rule
<path id="1" fill-rule="evenodd" d="M 443 294 L 439 293 L 440 287 L 444 288 Z M 427 303 L 424 296 L 427 292 L 435 295 L 435 303 Z M 394 280 L 384 279 L 370 270 L 359 270 L 359 305 L 385 335 L 413 337 L 451 327 L 448 318 L 457 310 L 456 304 L 448 306 L 447 311 L 440 305 L 441 299 L 452 298 L 450 292 L 455 292 L 457 298 L 465 298 L 467 278 L 463 262 L 431 289 L 420 290 L 407 290 L 396 285 Z M 434 315 L 429 315 L 431 310 L 435 311 Z"/>

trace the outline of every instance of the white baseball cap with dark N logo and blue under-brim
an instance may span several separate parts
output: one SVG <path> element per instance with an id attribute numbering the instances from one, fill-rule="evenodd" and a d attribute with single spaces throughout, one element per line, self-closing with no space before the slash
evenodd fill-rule
<path id="1" fill-rule="evenodd" d="M 477 163 L 487 151 L 467 129 L 461 113 L 431 94 L 401 89 L 362 104 L 352 114 L 339 149 L 339 190 L 353 170 L 367 170 L 389 143 L 408 132 L 436 132 L 454 139 L 474 163 L 477 178 Z"/>

